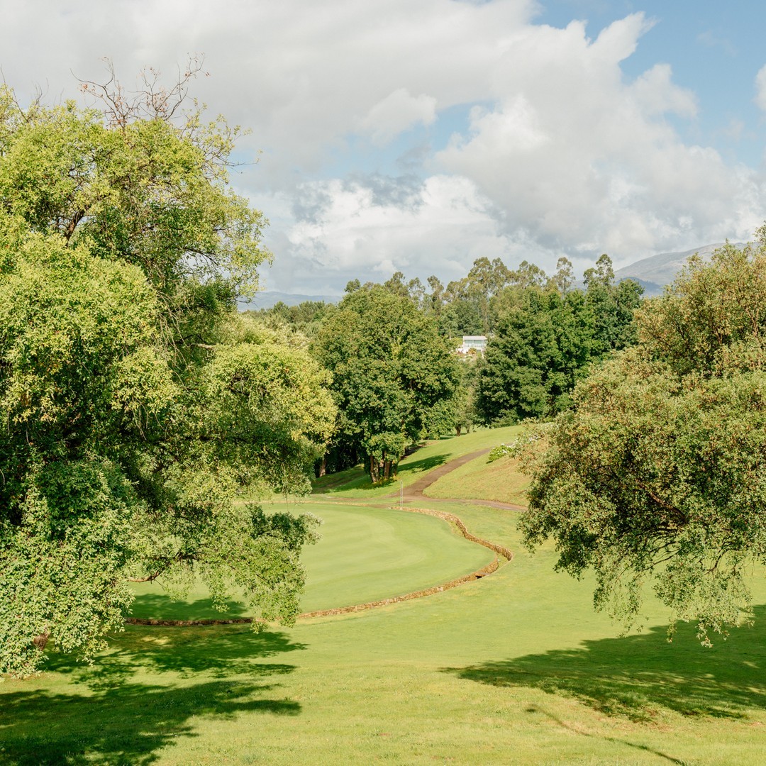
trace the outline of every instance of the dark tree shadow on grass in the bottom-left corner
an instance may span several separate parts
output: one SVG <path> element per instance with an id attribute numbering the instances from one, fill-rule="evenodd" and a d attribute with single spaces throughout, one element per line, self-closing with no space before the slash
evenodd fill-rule
<path id="1" fill-rule="evenodd" d="M 186 687 L 125 684 L 92 696 L 42 690 L 0 696 L 0 762 L 151 764 L 159 749 L 195 737 L 190 719 L 236 719 L 242 713 L 297 715 L 300 704 L 265 696 L 278 685 L 214 681 Z"/>

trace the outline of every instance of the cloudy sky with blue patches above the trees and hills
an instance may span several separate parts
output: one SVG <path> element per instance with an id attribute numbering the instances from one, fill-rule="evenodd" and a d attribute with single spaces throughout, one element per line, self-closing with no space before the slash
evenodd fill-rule
<path id="1" fill-rule="evenodd" d="M 22 103 L 154 67 L 250 133 L 231 183 L 270 221 L 265 290 L 581 273 L 748 241 L 766 218 L 766 3 L 0 0 Z"/>

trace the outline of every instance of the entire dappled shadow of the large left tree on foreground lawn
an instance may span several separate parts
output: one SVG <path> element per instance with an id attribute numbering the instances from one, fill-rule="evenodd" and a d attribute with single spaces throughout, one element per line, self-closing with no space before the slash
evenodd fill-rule
<path id="1" fill-rule="evenodd" d="M 304 648 L 286 633 L 232 625 L 128 627 L 93 666 L 52 652 L 45 670 L 67 674 L 74 691 L 22 684 L 0 693 L 0 763 L 151 764 L 161 748 L 198 736 L 201 716 L 298 715 L 300 703 L 285 699 L 278 681 L 294 666 L 269 658 Z M 87 689 L 77 693 L 78 685 Z"/>

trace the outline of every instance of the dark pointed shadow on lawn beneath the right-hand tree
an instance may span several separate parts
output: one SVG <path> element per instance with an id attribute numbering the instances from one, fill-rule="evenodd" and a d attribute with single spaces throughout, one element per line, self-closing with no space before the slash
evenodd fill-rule
<path id="1" fill-rule="evenodd" d="M 679 626 L 673 643 L 664 627 L 622 638 L 584 641 L 582 649 L 551 650 L 515 660 L 446 668 L 493 686 L 525 686 L 568 696 L 607 715 L 653 720 L 663 709 L 682 715 L 742 719 L 766 708 L 766 606 L 754 627 L 732 629 L 711 649 L 695 628 Z"/>

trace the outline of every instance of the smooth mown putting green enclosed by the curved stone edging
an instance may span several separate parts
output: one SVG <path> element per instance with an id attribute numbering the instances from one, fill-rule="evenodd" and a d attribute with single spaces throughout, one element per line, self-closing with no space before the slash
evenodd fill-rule
<path id="1" fill-rule="evenodd" d="M 303 551 L 306 592 L 303 611 L 364 604 L 432 588 L 470 574 L 494 554 L 468 542 L 447 522 L 407 511 L 362 506 L 307 504 L 319 516 L 322 539 Z M 203 585 L 185 600 L 172 600 L 159 584 L 136 584 L 133 617 L 203 620 L 242 617 L 247 608 L 232 602 L 215 611 Z"/>

